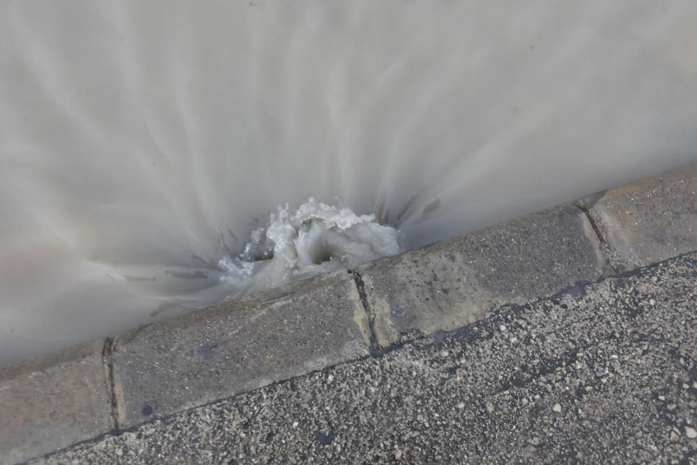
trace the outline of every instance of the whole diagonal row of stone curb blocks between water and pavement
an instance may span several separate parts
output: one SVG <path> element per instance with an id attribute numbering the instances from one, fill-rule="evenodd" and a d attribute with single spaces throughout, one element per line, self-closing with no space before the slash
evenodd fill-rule
<path id="1" fill-rule="evenodd" d="M 697 250 L 697 164 L 0 369 L 2 463 Z"/>

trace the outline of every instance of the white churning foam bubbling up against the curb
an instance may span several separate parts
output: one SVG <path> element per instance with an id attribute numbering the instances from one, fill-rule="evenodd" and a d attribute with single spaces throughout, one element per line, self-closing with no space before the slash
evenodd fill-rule
<path id="1" fill-rule="evenodd" d="M 402 239 L 375 215 L 356 215 L 310 197 L 296 209 L 279 207 L 268 224 L 252 231 L 239 257 L 221 259 L 226 274 L 220 279 L 231 287 L 228 298 L 238 298 L 397 254 Z"/>

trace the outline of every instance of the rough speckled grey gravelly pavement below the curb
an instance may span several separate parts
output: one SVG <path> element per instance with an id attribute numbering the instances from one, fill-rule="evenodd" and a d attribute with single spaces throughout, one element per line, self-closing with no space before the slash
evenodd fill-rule
<path id="1" fill-rule="evenodd" d="M 694 463 L 697 254 L 33 463 Z"/>

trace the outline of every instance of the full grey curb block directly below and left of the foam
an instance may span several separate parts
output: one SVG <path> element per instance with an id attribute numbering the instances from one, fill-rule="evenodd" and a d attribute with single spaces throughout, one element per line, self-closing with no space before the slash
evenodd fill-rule
<path id="1" fill-rule="evenodd" d="M 353 277 L 334 273 L 155 323 L 117 338 L 121 426 L 368 354 Z"/>

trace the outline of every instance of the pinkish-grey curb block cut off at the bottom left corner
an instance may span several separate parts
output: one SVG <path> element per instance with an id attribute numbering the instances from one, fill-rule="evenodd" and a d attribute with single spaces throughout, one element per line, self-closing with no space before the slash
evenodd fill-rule
<path id="1" fill-rule="evenodd" d="M 14 464 L 108 432 L 104 341 L 0 369 L 0 463 Z"/>

